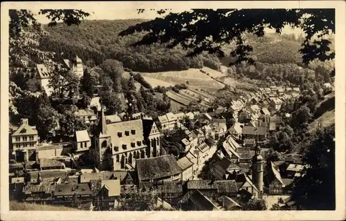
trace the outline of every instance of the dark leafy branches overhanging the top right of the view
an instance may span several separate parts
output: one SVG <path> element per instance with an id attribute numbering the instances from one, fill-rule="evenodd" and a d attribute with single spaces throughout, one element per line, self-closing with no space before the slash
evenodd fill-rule
<path id="1" fill-rule="evenodd" d="M 309 64 L 313 59 L 334 59 L 335 52 L 330 53 L 329 48 L 331 41 L 322 39 L 329 32 L 335 33 L 334 9 L 196 9 L 144 21 L 123 30 L 119 35 L 147 32 L 133 46 L 156 43 L 167 44 L 167 48 L 182 46 L 192 49 L 188 56 L 207 51 L 224 57 L 221 46 L 234 42 L 236 47 L 230 52 L 232 57 L 237 58 L 234 63 L 248 61 L 252 64 L 253 48 L 246 44 L 244 34 L 248 32 L 263 37 L 264 28 L 273 28 L 280 33 L 285 25 L 304 30 L 305 39 L 300 49 L 304 64 Z M 313 39 L 316 36 L 318 39 Z"/>

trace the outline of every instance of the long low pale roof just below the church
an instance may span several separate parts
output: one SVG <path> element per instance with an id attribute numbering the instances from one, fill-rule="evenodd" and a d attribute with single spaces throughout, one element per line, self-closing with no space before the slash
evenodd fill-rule
<path id="1" fill-rule="evenodd" d="M 127 171 L 102 171 L 100 173 L 82 173 L 80 182 L 87 183 L 91 180 L 124 180 L 127 176 Z"/>

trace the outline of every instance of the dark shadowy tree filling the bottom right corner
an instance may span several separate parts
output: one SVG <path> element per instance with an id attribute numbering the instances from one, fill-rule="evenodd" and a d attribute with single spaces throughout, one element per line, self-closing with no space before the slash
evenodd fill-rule
<path id="1" fill-rule="evenodd" d="M 335 125 L 316 132 L 303 151 L 304 169 L 293 181 L 293 198 L 300 209 L 334 210 Z"/>

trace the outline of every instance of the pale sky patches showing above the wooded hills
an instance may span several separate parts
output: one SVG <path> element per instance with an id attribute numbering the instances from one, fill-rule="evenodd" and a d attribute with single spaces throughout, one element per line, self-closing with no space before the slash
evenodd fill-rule
<path id="1" fill-rule="evenodd" d="M 91 13 L 87 20 L 115 20 L 115 19 L 155 19 L 156 17 L 160 17 L 156 10 L 146 9 L 143 13 L 138 14 L 138 10 L 134 8 L 129 8 L 126 10 L 109 10 L 102 7 L 93 8 L 92 10 L 85 10 L 86 12 Z M 33 10 L 35 14 L 38 14 L 38 10 Z M 172 9 L 170 12 L 182 12 L 182 10 Z M 164 15 L 161 15 L 164 16 Z M 40 23 L 48 23 L 49 20 L 44 15 L 36 15 L 35 18 Z M 266 28 L 266 32 L 275 32 L 269 28 Z M 299 35 L 303 33 L 300 28 L 292 29 L 289 26 L 286 26 L 282 30 L 282 34 L 291 34 Z"/>

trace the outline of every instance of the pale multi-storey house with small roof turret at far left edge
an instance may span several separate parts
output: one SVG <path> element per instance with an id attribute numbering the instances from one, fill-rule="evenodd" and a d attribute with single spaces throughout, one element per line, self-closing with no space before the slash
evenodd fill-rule
<path id="1" fill-rule="evenodd" d="M 34 149 L 39 143 L 39 135 L 35 126 L 28 124 L 28 118 L 21 119 L 21 125 L 12 133 L 13 151 L 21 151 L 26 149 Z M 28 156 L 24 157 L 28 161 Z"/>

